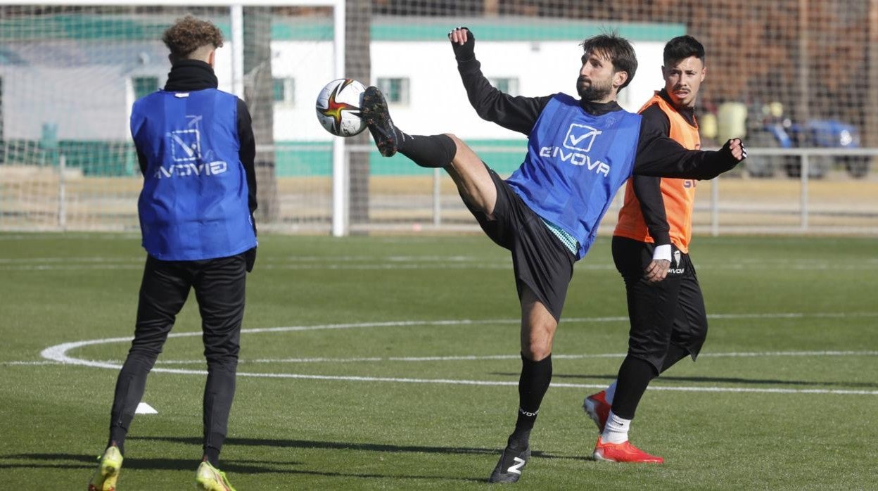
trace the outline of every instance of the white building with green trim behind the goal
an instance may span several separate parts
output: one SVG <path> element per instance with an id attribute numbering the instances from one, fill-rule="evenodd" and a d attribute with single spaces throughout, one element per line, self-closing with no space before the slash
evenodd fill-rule
<path id="1" fill-rule="evenodd" d="M 274 138 L 285 148 L 333 138 L 314 113 L 317 94 L 333 78 L 333 27 L 328 21 L 304 22 L 272 28 Z M 151 24 L 157 24 L 155 18 Z M 218 24 L 227 32 L 227 25 Z M 523 135 L 481 120 L 472 110 L 446 39 L 446 32 L 461 24 L 476 36 L 485 75 L 502 90 L 525 96 L 575 95 L 579 43 L 599 32 L 619 32 L 632 41 L 639 62 L 637 76 L 620 94 L 620 104 L 630 111 L 637 111 L 662 86 L 662 49 L 684 32 L 682 25 L 596 25 L 539 18 L 374 18 L 372 79 L 361 82 L 385 89 L 393 119 L 407 131 L 453 132 L 483 144 L 524 141 Z M 216 72 L 219 88 L 231 91 L 234 47 L 228 32 L 226 37 L 217 52 Z M 62 144 L 130 143 L 130 107 L 136 97 L 165 83 L 166 48 L 157 39 L 89 39 L 88 32 L 74 38 L 47 34 L 27 40 L 7 37 L 0 43 L 0 139 L 7 144 L 47 138 Z M 11 152 L 5 154 L 9 158 Z M 320 154 L 311 158 L 320 160 L 323 168 Z M 279 169 L 283 160 L 278 155 Z M 131 162 L 127 165 L 130 168 Z"/>

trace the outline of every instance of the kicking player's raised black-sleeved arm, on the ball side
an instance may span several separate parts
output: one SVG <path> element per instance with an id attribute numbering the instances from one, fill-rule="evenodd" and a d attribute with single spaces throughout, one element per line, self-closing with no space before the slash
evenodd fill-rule
<path id="1" fill-rule="evenodd" d="M 481 119 L 497 123 L 507 129 L 530 134 L 540 112 L 551 97 L 513 97 L 495 89 L 482 74 L 476 60 L 475 37 L 466 27 L 457 27 L 448 33 L 457 71 L 464 83 L 470 104 Z"/>

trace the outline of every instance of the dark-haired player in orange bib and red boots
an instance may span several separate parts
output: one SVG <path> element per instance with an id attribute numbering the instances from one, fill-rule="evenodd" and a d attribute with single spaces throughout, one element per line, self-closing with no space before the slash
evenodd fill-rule
<path id="1" fill-rule="evenodd" d="M 641 108 L 644 125 L 689 149 L 701 148 L 694 117 L 704 80 L 704 47 L 691 36 L 665 45 L 665 88 Z M 613 233 L 613 260 L 625 281 L 630 333 L 617 379 L 583 402 L 601 437 L 594 458 L 661 463 L 630 444 L 628 431 L 651 379 L 683 359 L 698 356 L 708 321 L 701 286 L 689 260 L 696 181 L 631 177 Z"/>

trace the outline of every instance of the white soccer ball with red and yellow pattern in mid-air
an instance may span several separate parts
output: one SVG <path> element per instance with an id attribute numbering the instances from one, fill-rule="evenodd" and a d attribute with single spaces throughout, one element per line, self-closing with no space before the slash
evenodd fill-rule
<path id="1" fill-rule="evenodd" d="M 336 136 L 354 136 L 366 129 L 366 123 L 360 118 L 365 90 L 362 83 L 352 78 L 327 83 L 317 96 L 320 125 Z"/>

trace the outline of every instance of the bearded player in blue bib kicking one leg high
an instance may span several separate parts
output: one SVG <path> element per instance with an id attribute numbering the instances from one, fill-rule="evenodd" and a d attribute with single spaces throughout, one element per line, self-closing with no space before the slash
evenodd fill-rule
<path id="1" fill-rule="evenodd" d="M 703 179 L 744 160 L 739 140 L 716 152 L 687 150 L 623 111 L 616 94 L 637 57 L 628 40 L 602 34 L 582 43 L 579 98 L 512 97 L 491 86 L 465 27 L 449 32 L 471 105 L 483 119 L 528 135 L 521 167 L 506 180 L 453 134 L 409 135 L 393 125 L 380 90 L 363 93 L 362 117 L 381 155 L 399 152 L 443 168 L 486 235 L 513 258 L 521 305 L 522 372 L 515 430 L 490 482 L 515 482 L 530 457 L 529 436 L 551 382 L 551 349 L 573 264 L 586 255 L 601 217 L 634 174 Z"/>

